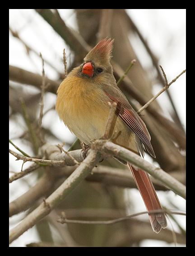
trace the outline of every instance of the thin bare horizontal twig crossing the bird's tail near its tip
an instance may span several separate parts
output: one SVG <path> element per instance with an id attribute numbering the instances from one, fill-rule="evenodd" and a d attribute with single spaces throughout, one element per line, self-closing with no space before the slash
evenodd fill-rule
<path id="1" fill-rule="evenodd" d="M 127 219 L 131 219 L 133 217 L 137 217 L 142 214 L 156 214 L 156 213 L 166 213 L 166 214 L 177 214 L 177 215 L 186 215 L 184 212 L 175 211 L 175 210 L 167 210 L 167 209 L 160 209 L 160 210 L 152 210 L 152 211 L 144 211 L 136 214 L 131 214 L 125 217 L 111 219 L 111 220 L 77 220 L 77 219 L 66 219 L 64 212 L 62 213 L 61 219 L 58 219 L 57 222 L 62 224 L 64 223 L 79 223 L 79 224 L 99 224 L 99 225 L 111 225 L 117 222 L 121 222 Z"/>

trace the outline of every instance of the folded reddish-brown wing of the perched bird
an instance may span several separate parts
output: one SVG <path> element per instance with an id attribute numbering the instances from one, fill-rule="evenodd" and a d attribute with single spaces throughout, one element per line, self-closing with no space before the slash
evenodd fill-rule
<path id="1" fill-rule="evenodd" d="M 150 135 L 144 124 L 144 121 L 139 117 L 135 110 L 131 107 L 129 102 L 125 99 L 114 98 L 109 93 L 104 91 L 107 96 L 117 103 L 116 114 L 121 120 L 139 137 L 145 148 L 153 157 L 155 157 L 153 147 L 150 143 Z"/>

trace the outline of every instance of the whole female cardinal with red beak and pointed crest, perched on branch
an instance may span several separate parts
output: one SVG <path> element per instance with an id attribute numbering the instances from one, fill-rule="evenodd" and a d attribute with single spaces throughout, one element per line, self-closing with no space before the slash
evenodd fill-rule
<path id="1" fill-rule="evenodd" d="M 88 145 L 104 133 L 110 108 L 115 101 L 113 129 L 119 134 L 114 143 L 143 156 L 144 149 L 155 157 L 149 132 L 125 95 L 116 85 L 110 63 L 114 40 L 105 38 L 74 68 L 57 90 L 56 111 L 80 141 Z M 149 175 L 128 163 L 148 211 L 162 209 Z M 165 214 L 149 214 L 153 231 L 167 227 Z"/>

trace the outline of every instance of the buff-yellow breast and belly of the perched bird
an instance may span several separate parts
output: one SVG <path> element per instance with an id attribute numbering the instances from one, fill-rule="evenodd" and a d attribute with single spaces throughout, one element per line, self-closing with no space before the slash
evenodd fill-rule
<path id="1" fill-rule="evenodd" d="M 101 89 L 86 91 L 81 90 L 85 85 L 80 84 L 80 89 L 74 86 L 63 87 L 63 83 L 58 89 L 56 111 L 65 126 L 85 144 L 91 144 L 92 140 L 102 137 L 110 108 L 102 95 Z M 71 84 L 70 84 L 71 85 Z M 125 146 L 137 151 L 139 145 L 135 134 L 121 121 L 120 117 L 115 116 L 112 132 L 116 133 L 114 143 Z"/>

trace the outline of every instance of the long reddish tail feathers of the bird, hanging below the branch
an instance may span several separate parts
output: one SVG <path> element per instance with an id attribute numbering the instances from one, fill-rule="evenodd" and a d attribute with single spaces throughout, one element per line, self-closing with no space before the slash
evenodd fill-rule
<path id="1" fill-rule="evenodd" d="M 129 163 L 128 165 L 130 167 L 131 173 L 133 174 L 139 192 L 144 200 L 146 209 L 148 211 L 162 209 L 162 206 L 158 200 L 158 196 L 148 173 L 140 169 L 135 170 L 135 168 Z M 161 231 L 161 228 L 167 227 L 167 220 L 165 214 L 149 214 L 149 218 L 154 232 L 159 233 Z"/>

